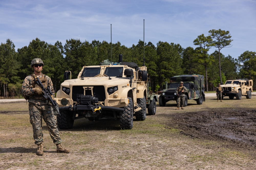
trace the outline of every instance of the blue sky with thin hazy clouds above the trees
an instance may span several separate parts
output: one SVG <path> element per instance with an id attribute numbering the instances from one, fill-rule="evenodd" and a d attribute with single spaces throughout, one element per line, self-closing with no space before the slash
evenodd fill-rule
<path id="1" fill-rule="evenodd" d="M 229 31 L 232 47 L 221 53 L 237 58 L 244 51 L 256 51 L 255 0 L 1 0 L 0 41 L 10 39 L 17 51 L 39 38 L 65 45 L 80 41 L 118 41 L 126 47 L 143 41 L 196 46 L 197 36 L 208 31 Z M 214 52 L 212 48 L 209 52 Z"/>

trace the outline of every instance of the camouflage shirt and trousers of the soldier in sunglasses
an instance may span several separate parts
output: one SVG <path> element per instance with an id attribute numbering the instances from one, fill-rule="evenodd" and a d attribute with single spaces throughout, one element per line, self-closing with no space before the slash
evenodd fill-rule
<path id="1" fill-rule="evenodd" d="M 30 116 L 30 123 L 33 127 L 33 136 L 35 140 L 35 144 L 41 144 L 43 142 L 43 134 L 42 134 L 42 119 L 44 119 L 50 136 L 55 144 L 61 143 L 61 138 L 59 135 L 59 131 L 57 128 L 57 118 L 54 115 L 53 109 L 51 107 L 51 103 L 48 100 L 45 100 L 44 96 L 38 95 L 33 90 L 39 87 L 35 81 L 33 81 L 36 76 L 35 74 L 31 74 L 27 76 L 22 84 L 22 94 L 25 96 L 29 96 L 29 116 Z M 44 86 L 50 86 L 52 93 L 54 94 L 54 88 L 50 77 L 41 73 L 40 76 L 41 82 Z"/>

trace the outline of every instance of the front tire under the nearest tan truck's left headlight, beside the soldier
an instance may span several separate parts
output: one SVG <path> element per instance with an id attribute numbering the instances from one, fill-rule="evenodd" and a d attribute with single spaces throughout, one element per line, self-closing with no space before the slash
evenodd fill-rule
<path id="1" fill-rule="evenodd" d="M 74 124 L 72 112 L 69 110 L 60 111 L 60 115 L 57 116 L 57 124 L 60 129 L 71 129 Z"/>

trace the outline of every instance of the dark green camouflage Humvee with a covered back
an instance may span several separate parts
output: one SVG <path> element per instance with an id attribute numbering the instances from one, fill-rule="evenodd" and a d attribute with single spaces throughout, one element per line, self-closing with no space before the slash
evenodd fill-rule
<path id="1" fill-rule="evenodd" d="M 165 89 L 158 93 L 160 95 L 158 101 L 159 106 L 165 106 L 166 102 L 170 100 L 177 100 L 178 94 L 176 94 L 176 90 L 181 81 L 184 82 L 183 86 L 187 88 L 184 106 L 187 106 L 188 99 L 196 100 L 197 104 L 202 104 L 202 102 L 205 101 L 205 85 L 203 75 L 177 75 L 171 77 L 170 83 L 166 82 Z"/>

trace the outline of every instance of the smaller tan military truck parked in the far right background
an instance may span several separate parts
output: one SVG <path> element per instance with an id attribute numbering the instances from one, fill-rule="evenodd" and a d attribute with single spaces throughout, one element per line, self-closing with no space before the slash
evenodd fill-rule
<path id="1" fill-rule="evenodd" d="M 246 96 L 247 99 L 252 97 L 252 80 L 248 79 L 237 79 L 237 80 L 227 80 L 225 84 L 220 85 L 223 87 L 222 99 L 228 96 L 229 99 L 241 100 L 242 96 Z"/>

